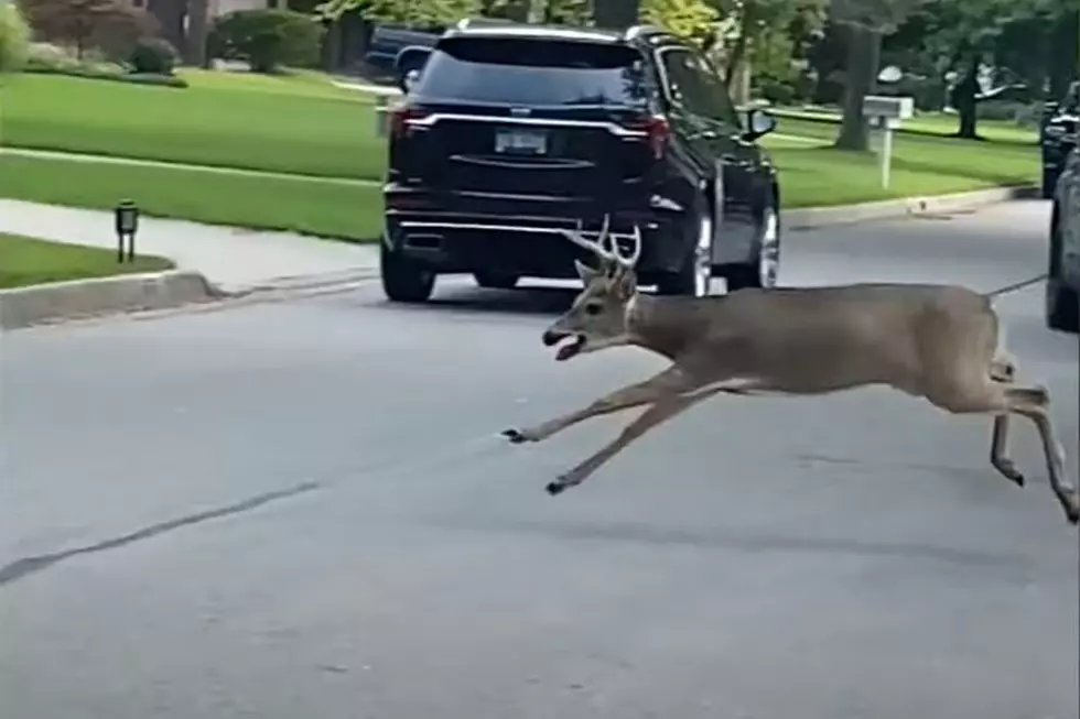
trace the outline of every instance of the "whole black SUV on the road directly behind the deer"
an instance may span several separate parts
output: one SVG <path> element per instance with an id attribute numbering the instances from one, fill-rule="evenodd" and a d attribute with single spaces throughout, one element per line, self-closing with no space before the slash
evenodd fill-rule
<path id="1" fill-rule="evenodd" d="M 384 189 L 391 299 L 426 301 L 440 273 L 576 277 L 591 258 L 562 232 L 595 237 L 605 216 L 615 241 L 640 231 L 639 281 L 661 293 L 775 283 L 780 190 L 755 141 L 776 122 L 736 111 L 694 47 L 646 26 L 463 21 L 411 50 L 426 61 L 391 110 Z"/>

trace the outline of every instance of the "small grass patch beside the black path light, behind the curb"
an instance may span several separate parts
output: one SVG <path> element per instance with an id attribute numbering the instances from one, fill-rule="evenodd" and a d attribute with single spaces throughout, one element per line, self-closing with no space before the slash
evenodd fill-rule
<path id="1" fill-rule="evenodd" d="M 172 266 L 169 260 L 156 257 L 136 257 L 134 262 L 120 264 L 110 250 L 0 235 L 0 288 L 154 272 Z"/>

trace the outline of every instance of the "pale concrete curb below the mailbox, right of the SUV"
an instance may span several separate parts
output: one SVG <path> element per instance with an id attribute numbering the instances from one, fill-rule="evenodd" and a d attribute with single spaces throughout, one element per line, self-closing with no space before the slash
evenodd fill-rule
<path id="1" fill-rule="evenodd" d="M 959 213 L 985 205 L 1008 201 L 1011 199 L 1029 199 L 1035 197 L 1038 197 L 1038 188 L 1034 185 L 994 187 L 992 189 L 979 189 L 954 195 L 905 197 L 901 199 L 863 203 L 860 205 L 789 209 L 784 211 L 782 221 L 784 229 L 787 230 L 810 230 L 821 227 L 854 225 L 871 220 Z"/>

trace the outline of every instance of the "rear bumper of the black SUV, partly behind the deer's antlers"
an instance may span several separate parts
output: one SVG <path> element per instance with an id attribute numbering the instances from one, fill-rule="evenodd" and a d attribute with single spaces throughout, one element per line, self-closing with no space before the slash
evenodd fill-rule
<path id="1" fill-rule="evenodd" d="M 520 276 L 573 279 L 574 260 L 595 263 L 587 250 L 563 235 L 577 227 L 594 239 L 603 213 L 585 199 L 479 193 L 434 194 L 388 184 L 384 241 L 440 272 L 492 270 Z M 656 205 L 659 204 L 659 207 Z M 673 203 L 656 200 L 612 211 L 611 237 L 629 252 L 633 231 L 641 232 L 642 275 L 681 266 L 689 251 L 684 215 Z"/>

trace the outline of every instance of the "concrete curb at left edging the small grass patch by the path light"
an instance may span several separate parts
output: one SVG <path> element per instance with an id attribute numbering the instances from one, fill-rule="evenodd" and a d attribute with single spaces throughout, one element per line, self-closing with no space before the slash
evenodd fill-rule
<path id="1" fill-rule="evenodd" d="M 0 330 L 230 296 L 197 272 L 168 270 L 0 291 Z"/>

